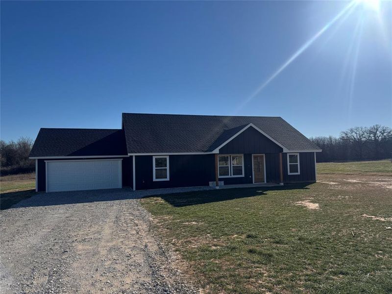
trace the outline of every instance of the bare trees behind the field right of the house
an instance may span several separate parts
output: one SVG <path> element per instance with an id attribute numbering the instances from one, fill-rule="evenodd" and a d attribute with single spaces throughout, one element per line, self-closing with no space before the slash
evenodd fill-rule
<path id="1" fill-rule="evenodd" d="M 351 127 L 339 137 L 309 139 L 322 149 L 316 155 L 318 162 L 377 160 L 392 155 L 392 129 L 380 124 Z"/>

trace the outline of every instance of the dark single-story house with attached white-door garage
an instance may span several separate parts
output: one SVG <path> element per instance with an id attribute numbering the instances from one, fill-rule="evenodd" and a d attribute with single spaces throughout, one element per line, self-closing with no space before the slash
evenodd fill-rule
<path id="1" fill-rule="evenodd" d="M 121 129 L 41 128 L 37 191 L 316 181 L 321 149 L 280 117 L 123 113 Z"/>

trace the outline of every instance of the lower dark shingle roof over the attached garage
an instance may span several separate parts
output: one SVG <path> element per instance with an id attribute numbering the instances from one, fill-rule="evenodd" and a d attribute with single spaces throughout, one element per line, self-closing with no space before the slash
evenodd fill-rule
<path id="1" fill-rule="evenodd" d="M 36 157 L 127 155 L 121 129 L 41 128 L 30 151 Z"/>

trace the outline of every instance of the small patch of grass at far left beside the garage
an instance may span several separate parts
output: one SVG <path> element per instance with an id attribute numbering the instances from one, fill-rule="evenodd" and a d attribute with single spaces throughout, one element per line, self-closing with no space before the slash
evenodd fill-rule
<path id="1" fill-rule="evenodd" d="M 0 209 L 8 209 L 35 194 L 35 174 L 7 175 L 0 178 Z"/>

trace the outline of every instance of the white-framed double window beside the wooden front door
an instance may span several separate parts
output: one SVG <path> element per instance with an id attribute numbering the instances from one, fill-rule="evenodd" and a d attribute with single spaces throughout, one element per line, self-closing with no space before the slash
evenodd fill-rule
<path id="1" fill-rule="evenodd" d="M 224 154 L 218 156 L 219 177 L 244 176 L 244 154 Z"/>

